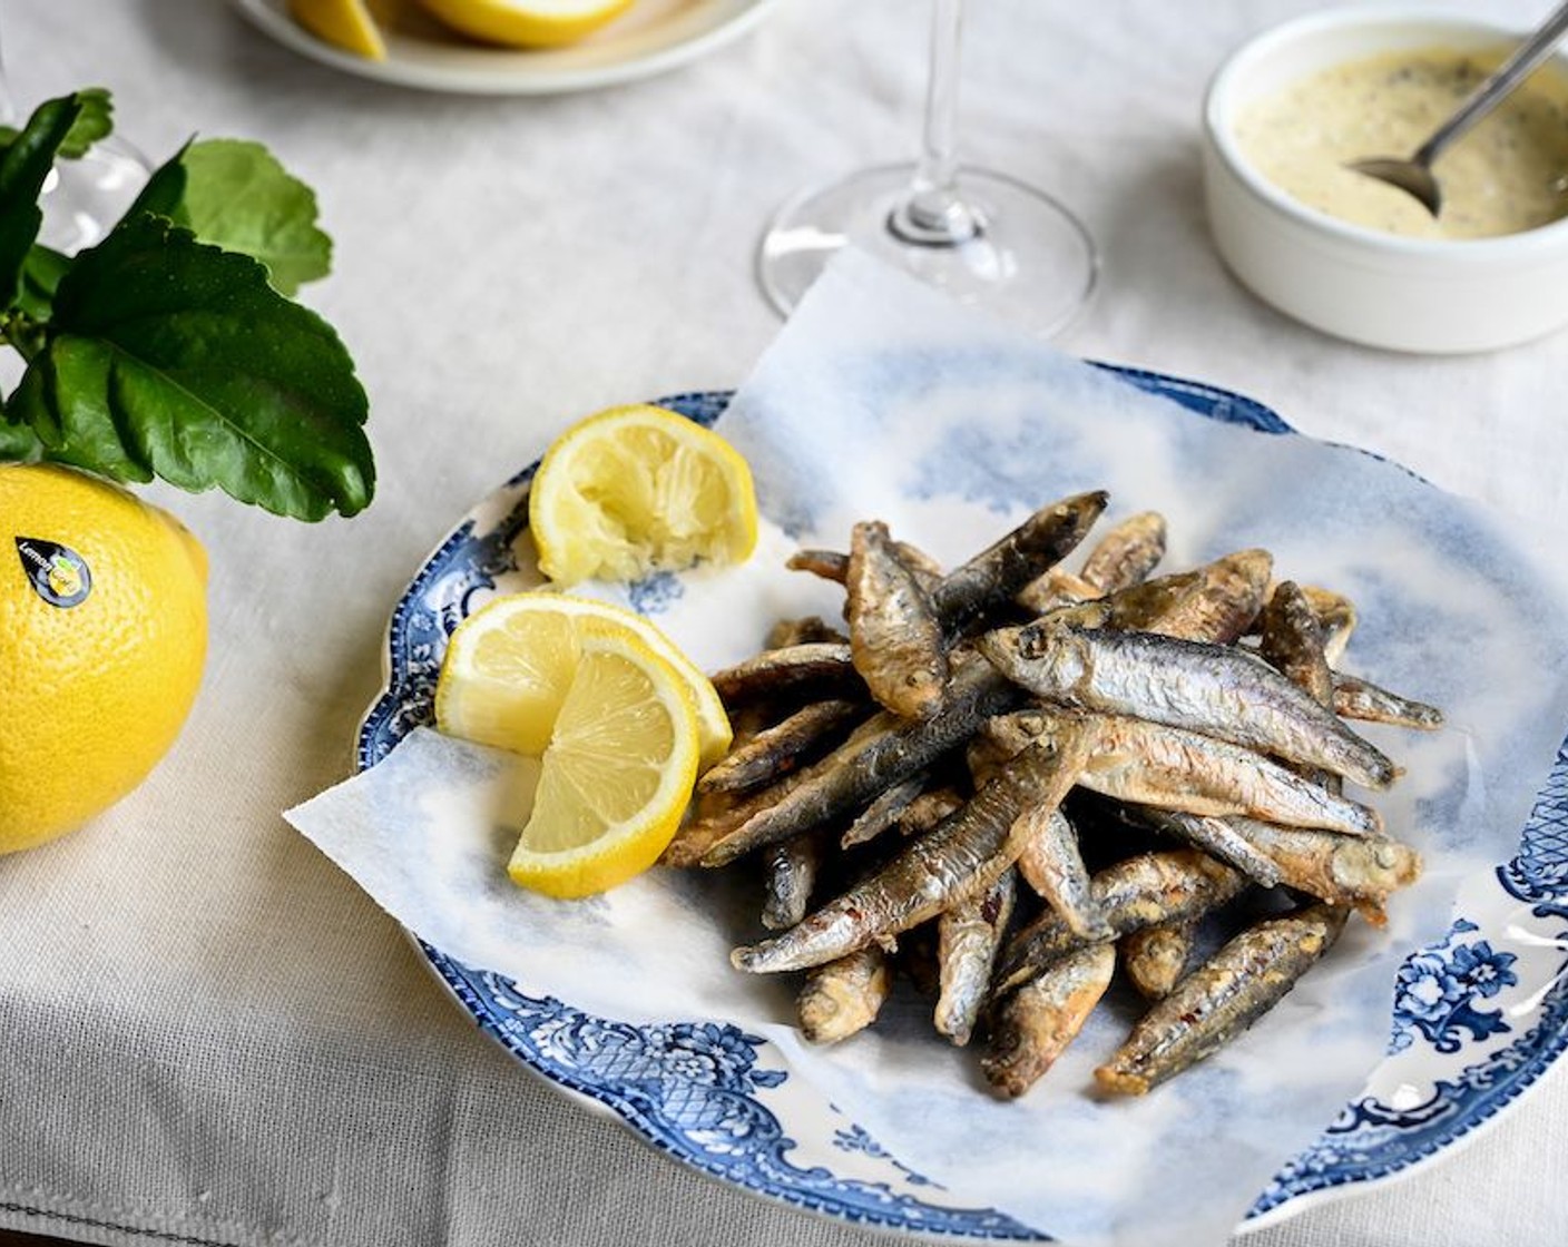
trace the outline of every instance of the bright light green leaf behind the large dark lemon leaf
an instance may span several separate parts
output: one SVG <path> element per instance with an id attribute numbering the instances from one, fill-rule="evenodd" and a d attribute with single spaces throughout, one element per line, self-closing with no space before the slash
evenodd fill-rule
<path id="1" fill-rule="evenodd" d="M 315 193 L 267 147 L 213 138 L 188 144 L 177 158 L 185 187 L 168 213 L 177 224 L 205 243 L 254 256 L 285 295 L 326 276 L 332 240 L 317 229 Z"/>

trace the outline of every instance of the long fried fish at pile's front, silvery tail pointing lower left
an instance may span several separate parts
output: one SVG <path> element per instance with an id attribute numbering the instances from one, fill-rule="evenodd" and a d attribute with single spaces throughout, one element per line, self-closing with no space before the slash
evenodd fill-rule
<path id="1" fill-rule="evenodd" d="M 1058 802 L 1071 784 L 1073 775 L 1049 750 L 1025 750 L 870 878 L 782 935 L 735 949 L 731 960 L 753 974 L 803 969 L 935 918 L 989 888 L 1011 866 L 1004 849 L 1021 809 Z"/>

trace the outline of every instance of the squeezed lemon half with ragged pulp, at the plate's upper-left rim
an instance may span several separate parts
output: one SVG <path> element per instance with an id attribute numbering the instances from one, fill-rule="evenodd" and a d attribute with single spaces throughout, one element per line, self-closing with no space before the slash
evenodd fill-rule
<path id="1" fill-rule="evenodd" d="M 568 428 L 528 493 L 539 569 L 552 580 L 637 580 L 757 544 L 751 469 L 712 430 L 660 406 L 616 406 Z"/>

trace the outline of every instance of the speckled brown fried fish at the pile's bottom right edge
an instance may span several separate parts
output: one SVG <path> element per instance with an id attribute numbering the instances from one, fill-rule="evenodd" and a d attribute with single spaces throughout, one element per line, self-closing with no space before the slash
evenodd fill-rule
<path id="1" fill-rule="evenodd" d="M 1339 938 L 1345 911 L 1314 905 L 1259 922 L 1193 969 L 1094 1070 L 1110 1092 L 1143 1095 L 1212 1056 L 1278 1004 Z"/>

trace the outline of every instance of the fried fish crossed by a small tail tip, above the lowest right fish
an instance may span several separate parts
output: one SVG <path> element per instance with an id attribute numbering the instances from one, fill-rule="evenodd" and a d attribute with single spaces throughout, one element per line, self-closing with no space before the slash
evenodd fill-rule
<path id="1" fill-rule="evenodd" d="M 1113 935 L 1193 918 L 1231 900 L 1247 880 L 1196 849 L 1170 849 L 1107 866 L 1090 880 L 1090 894 Z M 996 994 L 1027 983 L 1057 958 L 1083 946 L 1063 918 L 1046 911 L 1018 932 L 1002 952 Z"/>

